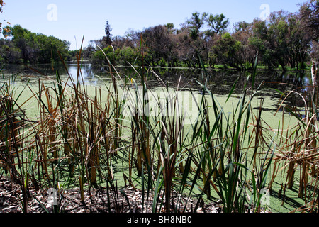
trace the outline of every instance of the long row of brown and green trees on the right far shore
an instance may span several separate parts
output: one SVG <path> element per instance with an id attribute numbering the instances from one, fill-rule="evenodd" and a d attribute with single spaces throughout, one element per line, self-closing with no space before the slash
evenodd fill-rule
<path id="1" fill-rule="evenodd" d="M 143 59 L 152 66 L 201 67 L 203 62 L 207 67 L 246 70 L 252 68 L 258 53 L 259 65 L 269 70 L 304 70 L 310 59 L 319 56 L 318 9 L 319 1 L 310 0 L 296 13 L 272 12 L 266 21 L 256 18 L 252 23 L 235 23 L 233 31 L 228 31 L 229 20 L 223 13 L 194 12 L 179 29 L 167 23 L 142 31 L 130 29 L 114 37 L 106 21 L 106 35 L 91 40 L 84 56 L 94 64 L 108 64 L 109 60 L 140 65 Z"/>

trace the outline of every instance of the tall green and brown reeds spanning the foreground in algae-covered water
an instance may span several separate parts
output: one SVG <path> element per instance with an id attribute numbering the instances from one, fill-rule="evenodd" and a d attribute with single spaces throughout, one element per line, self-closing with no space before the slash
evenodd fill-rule
<path id="1" fill-rule="evenodd" d="M 140 48 L 143 58 L 142 41 Z M 51 87 L 40 79 L 36 89 L 27 84 L 33 96 L 26 102 L 38 103 L 32 121 L 24 104 L 18 105 L 23 92 L 17 94 L 9 82 L 1 86 L 1 170 L 21 185 L 23 211 L 28 212 L 28 187 L 33 186 L 58 192 L 78 187 L 82 203 L 84 191 L 95 189 L 106 193 L 106 211 L 121 212 L 118 192 L 125 193 L 118 184 L 120 173 L 142 192 L 143 211 L 151 206 L 154 213 L 186 212 L 195 198 L 192 212 L 207 200 L 220 200 L 223 212 L 262 212 L 268 205 L 264 192 L 271 189 L 279 162 L 291 166 L 288 185 L 295 163 L 302 166 L 300 196 L 311 211 L 318 207 L 315 92 L 305 110 L 308 118 L 294 114 L 300 125 L 284 135 L 263 121 L 262 102 L 259 111 L 253 111 L 252 101 L 263 84 L 256 87 L 255 70 L 229 114 L 223 106 L 233 100 L 237 82 L 220 104 L 208 88 L 204 66 L 201 79 L 194 79 L 200 91 L 183 93 L 181 79 L 176 87 L 167 87 L 152 68 L 133 67 L 135 74 L 125 77 L 109 62 L 111 84 L 89 92 L 79 56 L 81 50 L 76 77 L 67 72 L 67 81 L 62 81 L 56 72 Z M 162 89 L 150 89 L 149 77 Z M 185 109 L 186 103 L 193 104 L 192 109 Z M 315 189 L 307 191 L 309 170 Z M 59 206 L 52 211 L 61 211 Z"/>

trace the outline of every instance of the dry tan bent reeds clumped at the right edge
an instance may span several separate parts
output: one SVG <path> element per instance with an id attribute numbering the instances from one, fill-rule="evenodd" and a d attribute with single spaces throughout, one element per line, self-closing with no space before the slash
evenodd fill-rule
<path id="1" fill-rule="evenodd" d="M 301 96 L 303 100 L 303 111 L 291 109 L 286 110 L 294 118 L 296 125 L 288 128 L 286 135 L 281 136 L 279 152 L 276 154 L 278 160 L 283 162 L 280 170 L 286 170 L 286 182 L 284 192 L 291 189 L 298 180 L 298 197 L 305 201 L 301 211 L 318 212 L 318 77 L 315 62 L 311 68 L 311 85 L 306 87 L 308 94 L 299 92 L 297 88 L 283 96 L 284 100 L 292 94 Z M 279 166 L 278 166 L 279 168 Z M 296 172 L 299 176 L 296 177 Z M 283 196 L 283 204 L 284 204 Z"/>

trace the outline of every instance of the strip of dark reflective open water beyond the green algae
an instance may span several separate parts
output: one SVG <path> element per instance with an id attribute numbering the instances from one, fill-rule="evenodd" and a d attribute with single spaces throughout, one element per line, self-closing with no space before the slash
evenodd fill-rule
<path id="1" fill-rule="evenodd" d="M 82 75 L 84 84 L 90 84 L 94 86 L 103 86 L 110 82 L 111 74 L 107 66 L 98 66 L 91 64 L 83 64 L 81 71 L 78 72 L 77 64 L 66 65 L 67 70 L 63 65 L 58 67 L 52 67 L 52 65 L 31 65 L 26 67 L 23 65 L 8 65 L 4 68 L 2 73 L 5 77 L 11 75 L 17 75 L 21 78 L 21 81 L 38 82 L 38 79 L 52 79 L 55 80 L 55 75 L 58 72 L 61 76 L 62 81 L 67 81 L 67 71 L 73 79 L 77 78 L 77 74 Z M 33 70 L 34 69 L 34 70 Z M 154 72 L 152 72 L 154 70 Z M 141 73 L 141 69 L 136 67 L 116 67 L 116 70 L 112 69 L 113 74 L 121 76 L 121 79 L 125 82 L 130 83 L 130 78 L 135 78 L 137 82 L 138 74 Z M 157 74 L 162 82 L 155 76 Z M 237 72 L 233 70 L 208 70 L 207 87 L 208 89 L 216 95 L 225 95 L 230 92 L 231 87 L 236 79 L 237 85 L 235 87 L 235 94 L 242 92 L 242 87 L 245 82 L 247 82 L 247 76 L 251 76 L 251 72 Z M 168 87 L 177 87 L 179 89 L 198 89 L 201 92 L 198 82 L 206 81 L 206 75 L 202 70 L 190 70 L 181 68 L 147 68 L 145 72 L 147 76 L 147 84 L 149 87 L 162 87 L 163 83 Z M 267 72 L 267 71 L 257 71 L 256 82 L 254 87 L 256 88 L 263 81 L 266 82 L 263 85 L 264 93 L 263 95 L 274 94 L 274 89 L 279 89 L 281 92 L 291 91 L 292 89 L 297 89 L 297 92 L 307 92 L 305 86 L 309 85 L 310 73 L 282 73 L 282 72 Z M 2 79 L 2 78 L 1 78 Z M 196 80 L 198 82 L 196 82 Z M 0 80 L 1 81 L 1 80 Z M 82 82 L 82 79 L 81 79 Z M 247 82 L 247 87 L 251 86 L 251 79 Z M 270 89 L 272 88 L 272 89 Z M 277 92 L 278 94 L 278 92 Z M 298 100 L 293 100 L 294 105 L 298 106 Z"/>

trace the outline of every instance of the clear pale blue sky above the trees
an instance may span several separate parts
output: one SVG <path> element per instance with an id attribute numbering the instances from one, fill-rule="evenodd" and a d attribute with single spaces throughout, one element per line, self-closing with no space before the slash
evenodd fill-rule
<path id="1" fill-rule="evenodd" d="M 0 22 L 19 24 L 34 33 L 54 35 L 71 43 L 70 50 L 79 49 L 84 35 L 84 47 L 90 40 L 105 35 L 106 21 L 112 35 L 159 24 L 174 23 L 175 28 L 191 18 L 192 13 L 223 13 L 230 21 L 230 29 L 239 21 L 252 22 L 269 12 L 296 12 L 307 0 L 4 0 Z"/>

